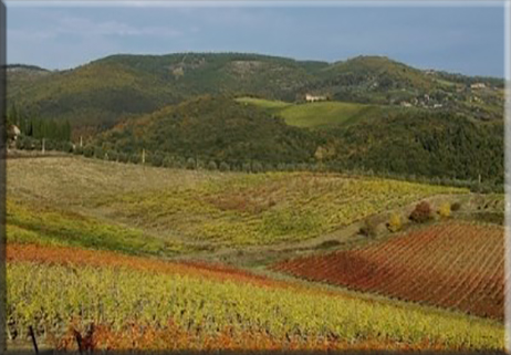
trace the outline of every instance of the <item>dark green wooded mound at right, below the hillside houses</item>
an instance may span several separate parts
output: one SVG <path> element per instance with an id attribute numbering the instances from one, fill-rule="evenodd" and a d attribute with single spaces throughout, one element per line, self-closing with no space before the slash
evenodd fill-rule
<path id="1" fill-rule="evenodd" d="M 477 123 L 440 112 L 388 115 L 332 133 L 346 167 L 428 178 L 504 180 L 503 123 Z"/>

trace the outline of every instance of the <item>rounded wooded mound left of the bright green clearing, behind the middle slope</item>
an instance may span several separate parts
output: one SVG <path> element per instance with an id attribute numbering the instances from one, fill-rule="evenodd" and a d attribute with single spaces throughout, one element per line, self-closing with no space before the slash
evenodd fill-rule
<path id="1" fill-rule="evenodd" d="M 225 97 L 200 96 L 118 124 L 98 135 L 103 150 L 175 155 L 240 165 L 305 163 L 314 159 L 316 137 L 257 107 Z"/>

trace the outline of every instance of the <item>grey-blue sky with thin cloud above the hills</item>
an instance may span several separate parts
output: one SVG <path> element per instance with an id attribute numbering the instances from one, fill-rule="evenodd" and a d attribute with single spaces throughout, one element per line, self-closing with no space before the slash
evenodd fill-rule
<path id="1" fill-rule="evenodd" d="M 496 2 L 6 1 L 8 63 L 71 69 L 118 53 L 250 52 L 335 62 L 385 55 L 419 69 L 504 75 Z"/>

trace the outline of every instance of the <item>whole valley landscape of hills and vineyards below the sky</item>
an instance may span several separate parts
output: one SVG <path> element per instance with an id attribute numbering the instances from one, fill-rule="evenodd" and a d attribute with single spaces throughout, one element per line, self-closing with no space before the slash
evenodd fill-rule
<path id="1" fill-rule="evenodd" d="M 10 349 L 504 352 L 503 80 L 246 53 L 7 73 Z"/>

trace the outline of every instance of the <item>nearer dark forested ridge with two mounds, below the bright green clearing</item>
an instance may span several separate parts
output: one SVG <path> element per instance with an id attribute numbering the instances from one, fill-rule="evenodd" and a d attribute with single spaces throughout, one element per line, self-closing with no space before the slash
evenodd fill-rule
<path id="1" fill-rule="evenodd" d="M 311 130 L 254 105 L 204 96 L 119 124 L 87 149 L 133 163 L 144 150 L 146 163 L 157 166 L 372 170 L 503 184 L 503 125 L 447 112 L 389 112 Z"/>

